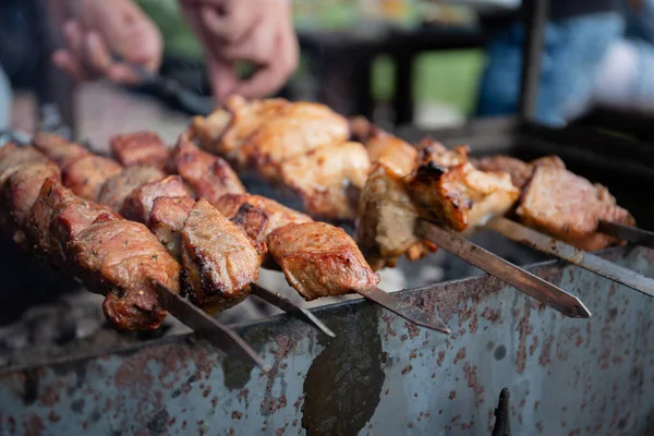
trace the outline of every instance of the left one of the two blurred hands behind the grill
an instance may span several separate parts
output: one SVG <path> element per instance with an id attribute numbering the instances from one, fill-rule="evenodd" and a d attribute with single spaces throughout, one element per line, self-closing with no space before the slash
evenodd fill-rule
<path id="1" fill-rule="evenodd" d="M 77 0 L 73 20 L 64 24 L 66 47 L 52 61 L 77 80 L 108 77 L 135 84 L 138 75 L 117 57 L 155 72 L 164 43 L 157 26 L 132 0 Z"/>

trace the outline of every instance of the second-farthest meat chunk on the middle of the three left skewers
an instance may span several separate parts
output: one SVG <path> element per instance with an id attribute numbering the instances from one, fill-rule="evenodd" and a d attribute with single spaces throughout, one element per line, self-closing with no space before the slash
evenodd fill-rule
<path id="1" fill-rule="evenodd" d="M 63 185 L 75 195 L 96 201 L 107 179 L 118 174 L 122 169 L 119 164 L 109 158 L 87 155 L 63 167 L 61 180 Z"/>

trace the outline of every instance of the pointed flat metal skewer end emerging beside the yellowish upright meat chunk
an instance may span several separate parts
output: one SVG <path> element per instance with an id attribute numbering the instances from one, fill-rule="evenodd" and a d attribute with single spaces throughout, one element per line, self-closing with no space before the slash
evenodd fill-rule
<path id="1" fill-rule="evenodd" d="M 519 291 L 571 318 L 590 318 L 591 312 L 577 296 L 494 255 L 460 234 L 421 220 L 417 233 L 443 250 L 511 284 Z"/>

